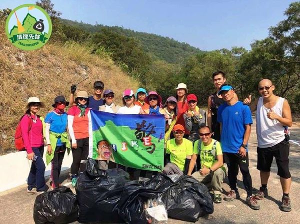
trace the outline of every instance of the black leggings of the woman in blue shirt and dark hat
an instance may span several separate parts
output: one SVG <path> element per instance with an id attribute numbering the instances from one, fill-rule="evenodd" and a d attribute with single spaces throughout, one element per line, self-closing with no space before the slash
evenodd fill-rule
<path id="1" fill-rule="evenodd" d="M 54 157 L 51 161 L 51 179 L 52 187 L 56 188 L 59 186 L 59 175 L 61 170 L 61 164 L 65 153 L 65 145 L 56 146 Z"/>

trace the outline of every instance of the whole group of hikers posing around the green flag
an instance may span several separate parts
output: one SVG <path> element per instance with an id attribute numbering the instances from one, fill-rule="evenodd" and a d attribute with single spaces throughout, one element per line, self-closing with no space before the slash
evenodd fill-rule
<path id="1" fill-rule="evenodd" d="M 208 97 L 207 124 L 206 112 L 197 106 L 197 96 L 188 94 L 184 83 L 179 83 L 176 96 L 169 96 L 162 103 L 155 91 L 146 92 L 144 88 L 125 89 L 122 106 L 114 102 L 114 92 L 104 90 L 104 83 L 93 83 L 94 93 L 76 92 L 71 86 L 69 102 L 57 96 L 52 104 L 53 110 L 45 119 L 37 115 L 44 106 L 37 97 L 28 99 L 27 111 L 20 124 L 27 158 L 32 160 L 28 176 L 27 194 L 41 194 L 46 190 L 44 180 L 45 165 L 42 160 L 44 140 L 47 145 L 46 162 L 51 162 L 51 188 L 59 186 L 59 173 L 65 150 L 72 151 L 73 162 L 68 181 L 74 187 L 77 176 L 83 172 L 88 157 L 88 118 L 89 109 L 117 114 L 161 114 L 165 120 L 165 167 L 167 175 L 191 175 L 205 184 L 214 203 L 220 203 L 222 182 L 228 176 L 230 191 L 224 200 L 239 198 L 237 189 L 238 168 L 247 192 L 246 203 L 254 210 L 259 209 L 256 200 L 267 196 L 267 181 L 270 166 L 275 157 L 283 196 L 280 209 L 291 211 L 290 173 L 288 170 L 289 143 L 286 127 L 291 126 L 291 113 L 288 102 L 273 94 L 274 85 L 268 79 L 258 83 L 261 97 L 252 102 L 251 96 L 243 102 L 238 101 L 234 88 L 225 84 L 222 71 L 212 74 L 216 92 Z M 74 97 L 76 92 L 76 97 Z M 103 98 L 102 98 L 103 93 Z M 70 105 L 67 112 L 65 107 Z M 257 169 L 260 171 L 261 187 L 252 195 L 252 181 L 248 168 L 248 139 L 251 132 L 251 112 L 256 110 Z M 68 140 L 68 134 L 70 141 Z M 228 171 L 224 168 L 227 165 Z M 117 165 L 106 160 L 98 161 L 101 169 L 115 168 Z M 129 173 L 136 169 L 124 168 Z M 152 173 L 151 173 L 152 174 Z M 141 175 L 141 172 L 139 173 Z M 137 178 L 138 176 L 137 175 Z M 136 176 L 132 176 L 136 178 Z"/>

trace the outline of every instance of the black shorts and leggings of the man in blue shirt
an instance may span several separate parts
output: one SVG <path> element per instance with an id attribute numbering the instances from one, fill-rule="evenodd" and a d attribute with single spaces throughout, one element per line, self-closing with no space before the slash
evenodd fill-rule
<path id="1" fill-rule="evenodd" d="M 228 166 L 228 181 L 230 189 L 237 191 L 236 176 L 238 174 L 238 167 L 242 175 L 242 183 L 247 192 L 247 196 L 252 196 L 252 179 L 249 172 L 249 158 L 248 153 L 245 157 L 240 157 L 235 153 L 223 153 Z"/>

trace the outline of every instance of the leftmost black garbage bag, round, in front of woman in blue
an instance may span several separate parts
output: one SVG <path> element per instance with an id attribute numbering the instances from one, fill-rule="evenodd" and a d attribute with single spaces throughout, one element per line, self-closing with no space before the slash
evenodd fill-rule
<path id="1" fill-rule="evenodd" d="M 72 191 L 61 186 L 38 195 L 33 207 L 35 224 L 66 224 L 77 220 L 78 203 Z"/>

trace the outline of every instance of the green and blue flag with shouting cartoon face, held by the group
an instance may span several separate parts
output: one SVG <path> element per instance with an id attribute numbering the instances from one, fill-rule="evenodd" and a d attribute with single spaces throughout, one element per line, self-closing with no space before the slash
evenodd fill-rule
<path id="1" fill-rule="evenodd" d="M 126 167 L 161 171 L 163 115 L 113 114 L 90 110 L 89 157 Z"/>

